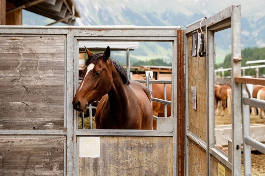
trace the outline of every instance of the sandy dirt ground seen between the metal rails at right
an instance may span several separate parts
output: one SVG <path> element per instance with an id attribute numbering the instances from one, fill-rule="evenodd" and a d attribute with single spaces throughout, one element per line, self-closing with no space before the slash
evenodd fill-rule
<path id="1" fill-rule="evenodd" d="M 221 112 L 221 108 L 219 108 Z M 265 119 L 261 119 L 258 115 L 250 115 L 250 123 L 264 124 Z M 215 115 L 215 125 L 231 124 L 231 116 L 227 115 L 227 110 L 224 111 L 224 116 Z M 241 155 L 242 161 L 242 176 L 243 176 L 243 154 Z M 265 154 L 258 151 L 252 151 L 252 176 L 265 176 Z"/>

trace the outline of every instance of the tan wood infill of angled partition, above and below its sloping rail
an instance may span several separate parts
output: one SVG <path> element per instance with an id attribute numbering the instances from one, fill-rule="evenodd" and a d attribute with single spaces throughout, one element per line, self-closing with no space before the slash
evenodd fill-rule
<path id="1" fill-rule="evenodd" d="M 201 140 L 207 140 L 207 116 L 206 116 L 206 57 L 191 57 L 192 35 L 188 36 L 188 116 L 189 131 Z M 197 89 L 197 107 L 192 109 L 191 87 Z M 206 151 L 188 141 L 188 172 L 189 176 L 206 176 L 207 162 Z"/>

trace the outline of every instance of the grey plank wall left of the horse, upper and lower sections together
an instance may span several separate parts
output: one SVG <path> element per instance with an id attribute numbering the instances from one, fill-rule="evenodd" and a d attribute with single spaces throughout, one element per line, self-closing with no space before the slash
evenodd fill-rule
<path id="1" fill-rule="evenodd" d="M 64 174 L 66 37 L 0 36 L 0 175 Z M 15 135 L 12 132 L 32 135 Z M 32 132 L 33 131 L 33 132 Z"/>

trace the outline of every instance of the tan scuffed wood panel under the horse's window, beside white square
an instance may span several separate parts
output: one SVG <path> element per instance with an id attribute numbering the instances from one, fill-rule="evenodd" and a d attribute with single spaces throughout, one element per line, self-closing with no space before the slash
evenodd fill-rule
<path id="1" fill-rule="evenodd" d="M 79 158 L 79 176 L 172 175 L 172 137 L 100 137 L 100 157 Z"/>

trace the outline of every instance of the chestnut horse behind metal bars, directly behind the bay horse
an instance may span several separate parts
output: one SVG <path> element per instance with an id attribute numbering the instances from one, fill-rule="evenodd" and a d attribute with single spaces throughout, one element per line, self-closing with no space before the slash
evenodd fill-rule
<path id="1" fill-rule="evenodd" d="M 133 74 L 132 79 L 134 80 L 145 80 L 144 76 Z M 152 84 L 153 94 L 152 97 L 164 99 L 164 85 L 163 84 Z M 166 100 L 171 101 L 171 85 L 166 84 Z M 171 106 L 167 105 L 167 117 L 171 116 Z M 153 101 L 153 114 L 157 117 L 164 117 L 164 104 Z M 157 129 L 157 121 L 154 120 L 153 129 Z"/>

